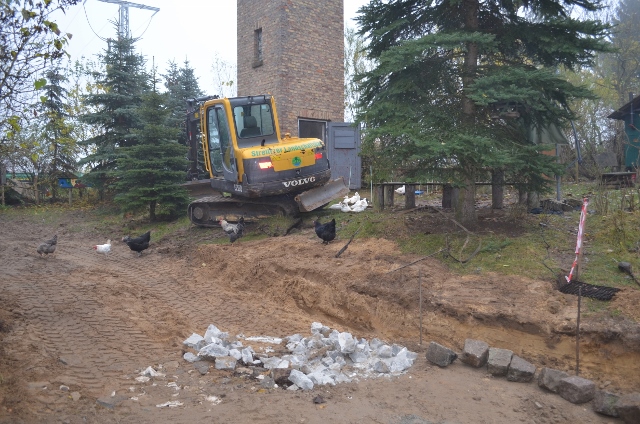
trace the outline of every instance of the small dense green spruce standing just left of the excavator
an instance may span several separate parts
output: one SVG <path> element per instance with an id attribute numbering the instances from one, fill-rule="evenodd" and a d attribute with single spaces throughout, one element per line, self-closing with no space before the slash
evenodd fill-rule
<path id="1" fill-rule="evenodd" d="M 189 195 L 180 184 L 187 167 L 187 148 L 178 144 L 178 129 L 168 124 L 169 96 L 155 90 L 142 96 L 138 116 L 143 123 L 133 133 L 135 145 L 118 149 L 115 201 L 125 211 L 148 210 L 149 219 L 174 216 L 186 209 Z"/>

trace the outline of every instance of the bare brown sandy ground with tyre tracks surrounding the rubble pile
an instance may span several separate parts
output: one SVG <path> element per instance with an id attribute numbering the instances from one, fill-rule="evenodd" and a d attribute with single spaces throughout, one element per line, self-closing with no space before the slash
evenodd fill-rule
<path id="1" fill-rule="evenodd" d="M 311 222 L 233 245 L 198 244 L 220 230 L 191 227 L 152 235 L 137 257 L 116 241 L 125 231 L 78 230 L 83 219 L 0 213 L 2 423 L 619 422 L 535 382 L 425 359 L 431 341 L 460 351 L 474 338 L 574 373 L 576 297 L 550 282 L 461 277 L 435 258 L 389 273 L 419 258 L 384 239 L 357 239 L 335 258 L 344 238 L 324 246 Z M 36 246 L 54 233 L 56 253 L 39 257 Z M 108 256 L 92 250 L 107 238 Z M 638 319 L 640 291 L 627 291 L 612 302 Z M 231 335 L 285 337 L 309 335 L 314 321 L 407 346 L 418 360 L 400 377 L 291 392 L 213 367 L 201 375 L 182 359 L 182 342 L 212 323 Z M 637 326 L 594 317 L 581 330 L 580 375 L 614 393 L 640 391 Z M 148 366 L 165 376 L 137 382 Z M 318 395 L 326 403 L 315 404 Z M 157 406 L 170 401 L 181 406 Z"/>

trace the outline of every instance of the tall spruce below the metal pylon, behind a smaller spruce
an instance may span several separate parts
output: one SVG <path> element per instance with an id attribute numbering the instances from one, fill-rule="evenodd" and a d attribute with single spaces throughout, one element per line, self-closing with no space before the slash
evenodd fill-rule
<path id="1" fill-rule="evenodd" d="M 99 129 L 97 135 L 81 142 L 93 148 L 80 163 L 89 167 L 84 180 L 94 184 L 101 194 L 113 188 L 118 149 L 136 143 L 134 130 L 140 128 L 141 122 L 135 112 L 149 87 L 145 61 L 135 52 L 135 41 L 118 38 L 108 43 L 101 56 L 105 69 L 96 75 L 104 92 L 87 96 L 85 103 L 95 111 L 81 117 L 83 122 Z"/>

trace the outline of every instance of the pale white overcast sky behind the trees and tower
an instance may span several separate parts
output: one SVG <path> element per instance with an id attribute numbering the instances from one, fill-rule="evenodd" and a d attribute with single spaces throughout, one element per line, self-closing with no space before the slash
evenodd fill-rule
<path id="1" fill-rule="evenodd" d="M 236 61 L 236 1 L 129 2 L 160 9 L 155 13 L 129 7 L 129 29 L 134 38 L 140 38 L 136 42 L 136 50 L 146 57 L 148 66 L 153 60 L 160 73 L 164 73 L 170 60 L 181 66 L 188 59 L 202 90 L 206 94 L 215 94 L 208 78 L 214 54 L 229 63 Z M 344 0 L 345 25 L 355 27 L 352 18 L 367 3 L 368 0 Z M 115 37 L 114 22 L 118 18 L 118 4 L 84 0 L 84 3 L 69 8 L 66 14 L 56 15 L 54 20 L 61 31 L 73 34 L 67 51 L 75 61 L 82 56 L 95 59 L 95 55 L 106 48 L 104 40 Z"/>

